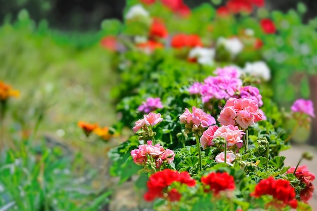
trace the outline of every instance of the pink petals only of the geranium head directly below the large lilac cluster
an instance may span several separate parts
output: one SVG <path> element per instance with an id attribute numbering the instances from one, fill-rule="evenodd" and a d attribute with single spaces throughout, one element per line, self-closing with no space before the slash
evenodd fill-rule
<path id="1" fill-rule="evenodd" d="M 192 107 L 192 113 L 185 108 L 185 112 L 180 115 L 179 120 L 183 124 L 194 124 L 207 128 L 209 125 L 216 124 L 216 119 L 210 114 L 205 113 L 202 109 Z"/>

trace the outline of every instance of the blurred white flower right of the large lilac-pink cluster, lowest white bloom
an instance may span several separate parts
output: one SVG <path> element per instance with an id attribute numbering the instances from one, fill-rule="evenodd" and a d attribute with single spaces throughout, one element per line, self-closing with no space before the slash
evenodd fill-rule
<path id="1" fill-rule="evenodd" d="M 263 61 L 257 61 L 253 63 L 247 62 L 244 68 L 244 72 L 249 75 L 261 78 L 265 81 L 271 78 L 270 69 Z"/>

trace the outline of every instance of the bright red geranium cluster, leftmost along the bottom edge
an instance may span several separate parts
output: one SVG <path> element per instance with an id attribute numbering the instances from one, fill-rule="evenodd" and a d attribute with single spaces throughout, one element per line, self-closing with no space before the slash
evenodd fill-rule
<path id="1" fill-rule="evenodd" d="M 148 191 L 144 194 L 146 201 L 153 201 L 155 198 L 165 198 L 169 201 L 179 201 L 181 194 L 175 189 L 168 190 L 168 187 L 174 182 L 195 186 L 195 180 L 191 179 L 187 172 L 176 172 L 169 169 L 157 172 L 150 176 L 147 181 Z"/>

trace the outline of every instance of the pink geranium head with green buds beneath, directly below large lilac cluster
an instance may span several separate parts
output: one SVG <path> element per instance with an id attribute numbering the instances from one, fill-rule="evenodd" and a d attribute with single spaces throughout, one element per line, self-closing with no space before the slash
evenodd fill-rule
<path id="1" fill-rule="evenodd" d="M 187 134 L 201 131 L 209 125 L 216 124 L 216 120 L 210 114 L 205 113 L 202 109 L 192 107 L 192 113 L 185 108 L 185 112 L 180 115 L 179 120 L 185 124 L 185 132 Z"/>

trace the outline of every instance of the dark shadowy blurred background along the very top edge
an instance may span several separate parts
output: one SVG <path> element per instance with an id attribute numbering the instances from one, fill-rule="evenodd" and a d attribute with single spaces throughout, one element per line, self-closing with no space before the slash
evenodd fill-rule
<path id="1" fill-rule="evenodd" d="M 202 3 L 212 3 L 221 6 L 224 1 L 220 0 L 185 0 L 184 3 L 190 8 L 197 7 Z M 315 16 L 317 2 L 311 0 L 266 0 L 265 7 L 269 10 L 288 11 L 296 8 L 301 2 L 307 6 L 304 21 L 307 22 Z M 98 31 L 100 23 L 109 18 L 123 20 L 125 0 L 0 0 L 0 24 L 14 22 L 22 9 L 29 12 L 35 23 L 46 20 L 49 26 L 63 31 Z"/>

